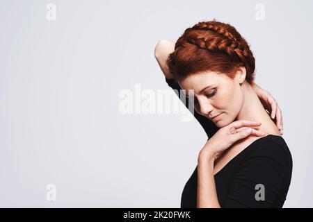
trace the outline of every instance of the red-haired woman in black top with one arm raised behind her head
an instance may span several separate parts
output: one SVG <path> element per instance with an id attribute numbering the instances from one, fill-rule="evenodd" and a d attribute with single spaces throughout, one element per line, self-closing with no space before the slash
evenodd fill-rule
<path id="1" fill-rule="evenodd" d="M 246 40 L 214 19 L 187 28 L 175 46 L 160 41 L 154 55 L 168 85 L 192 96 L 195 118 L 209 137 L 181 207 L 282 207 L 292 157 L 281 137 L 280 108 L 254 83 L 255 58 Z"/>

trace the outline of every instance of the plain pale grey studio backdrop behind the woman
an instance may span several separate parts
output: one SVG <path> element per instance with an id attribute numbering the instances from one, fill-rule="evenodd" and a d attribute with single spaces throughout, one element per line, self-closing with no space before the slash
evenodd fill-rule
<path id="1" fill-rule="evenodd" d="M 56 21 L 46 6 L 56 4 Z M 255 5 L 265 20 L 255 19 Z M 181 114 L 121 114 L 122 89 L 170 89 L 161 39 L 216 18 L 246 37 L 284 117 L 284 207 L 313 207 L 313 1 L 0 1 L 0 206 L 180 207 L 207 137 Z M 56 185 L 56 201 L 46 186 Z"/>

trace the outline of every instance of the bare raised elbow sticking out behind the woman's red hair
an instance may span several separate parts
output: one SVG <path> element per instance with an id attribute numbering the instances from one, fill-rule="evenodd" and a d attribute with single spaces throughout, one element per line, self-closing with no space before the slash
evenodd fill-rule
<path id="1" fill-rule="evenodd" d="M 170 74 L 170 71 L 168 70 L 168 65 L 166 65 L 166 60 L 168 55 L 174 51 L 174 48 L 175 42 L 160 40 L 154 49 L 154 57 L 157 59 L 157 62 L 159 63 L 159 66 L 161 67 L 161 70 L 166 78 L 172 78 L 172 74 Z"/>

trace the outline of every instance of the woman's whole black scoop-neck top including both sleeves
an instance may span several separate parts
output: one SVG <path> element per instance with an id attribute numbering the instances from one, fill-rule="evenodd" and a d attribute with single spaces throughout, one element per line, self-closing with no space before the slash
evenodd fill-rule
<path id="1" fill-rule="evenodd" d="M 166 78 L 166 82 L 172 89 L 181 89 L 175 80 Z M 193 113 L 211 138 L 219 128 L 195 110 Z M 214 176 L 218 203 L 220 207 L 282 207 L 291 173 L 292 157 L 284 139 L 278 135 L 260 137 Z M 182 208 L 197 207 L 197 185 L 198 166 L 182 192 Z"/>

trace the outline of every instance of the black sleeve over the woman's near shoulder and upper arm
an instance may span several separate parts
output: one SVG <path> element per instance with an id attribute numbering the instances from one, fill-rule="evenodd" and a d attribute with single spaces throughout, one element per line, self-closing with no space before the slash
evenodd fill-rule
<path id="1" fill-rule="evenodd" d="M 282 207 L 291 181 L 292 161 L 288 156 L 280 144 L 258 144 L 234 175 L 221 207 L 271 208 L 280 203 Z"/>

